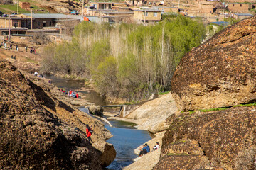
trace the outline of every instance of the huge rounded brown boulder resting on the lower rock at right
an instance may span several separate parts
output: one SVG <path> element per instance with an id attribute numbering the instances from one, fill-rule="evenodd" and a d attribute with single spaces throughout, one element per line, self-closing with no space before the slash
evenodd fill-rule
<path id="1" fill-rule="evenodd" d="M 181 111 L 256 100 L 256 16 L 235 23 L 186 54 L 171 81 Z"/>

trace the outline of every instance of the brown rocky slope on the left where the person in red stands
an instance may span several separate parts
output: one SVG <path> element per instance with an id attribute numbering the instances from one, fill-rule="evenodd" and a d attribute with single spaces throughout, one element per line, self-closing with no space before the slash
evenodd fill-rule
<path id="1" fill-rule="evenodd" d="M 103 123 L 60 101 L 55 86 L 6 60 L 0 81 L 0 169 L 102 169 L 114 160 Z"/>

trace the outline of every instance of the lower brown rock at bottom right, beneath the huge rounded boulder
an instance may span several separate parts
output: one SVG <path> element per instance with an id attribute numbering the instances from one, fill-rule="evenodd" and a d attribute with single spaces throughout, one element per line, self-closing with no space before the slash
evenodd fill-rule
<path id="1" fill-rule="evenodd" d="M 172 116 L 154 169 L 256 169 L 256 107 Z"/>

